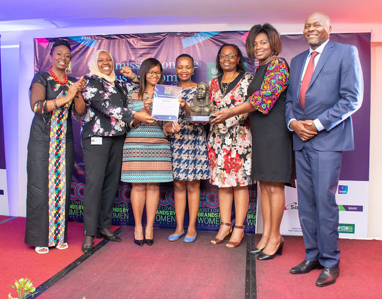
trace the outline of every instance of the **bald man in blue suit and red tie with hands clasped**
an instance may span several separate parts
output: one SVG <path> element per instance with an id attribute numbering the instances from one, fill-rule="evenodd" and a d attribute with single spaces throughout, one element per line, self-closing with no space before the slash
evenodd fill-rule
<path id="1" fill-rule="evenodd" d="M 329 40 L 332 27 L 324 13 L 311 14 L 304 27 L 310 49 L 290 64 L 286 122 L 294 131 L 298 215 L 305 260 L 293 274 L 322 269 L 316 285 L 336 282 L 340 273 L 337 191 L 342 151 L 354 149 L 350 115 L 363 98 L 358 50 Z"/>

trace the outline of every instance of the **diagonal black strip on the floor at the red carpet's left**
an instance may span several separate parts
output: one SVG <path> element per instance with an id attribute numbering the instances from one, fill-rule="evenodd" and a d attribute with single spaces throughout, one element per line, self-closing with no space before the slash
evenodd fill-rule
<path id="1" fill-rule="evenodd" d="M 119 227 L 114 233 L 119 234 L 121 232 L 121 227 Z M 53 277 L 49 278 L 47 281 L 42 283 L 36 288 L 35 295 L 31 295 L 28 298 L 35 298 L 41 295 L 44 291 L 46 291 L 48 288 L 50 288 L 52 285 L 54 285 L 56 282 L 58 282 L 60 279 L 64 278 L 66 275 L 68 275 L 72 270 L 74 270 L 77 266 L 79 266 L 81 263 L 83 263 L 85 260 L 90 258 L 94 253 L 96 253 L 98 250 L 100 250 L 105 244 L 109 242 L 107 239 L 103 239 L 100 241 L 96 246 L 93 247 L 93 250 L 91 252 L 88 252 L 84 255 L 81 255 L 79 258 L 77 258 L 74 262 L 72 262 L 70 265 L 66 266 L 64 269 L 62 269 L 59 273 L 54 275 Z"/>

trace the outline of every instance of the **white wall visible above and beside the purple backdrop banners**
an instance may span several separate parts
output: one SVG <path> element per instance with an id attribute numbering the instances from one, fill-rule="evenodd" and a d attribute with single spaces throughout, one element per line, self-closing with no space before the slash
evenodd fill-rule
<path id="1" fill-rule="evenodd" d="M 271 22 L 272 23 L 272 22 Z M 272 23 L 281 34 L 300 34 L 303 24 L 277 24 Z M 37 31 L 3 32 L 0 34 L 2 45 L 16 44 L 20 46 L 19 62 L 19 102 L 18 110 L 18 215 L 25 215 L 26 198 L 26 145 L 29 138 L 29 128 L 33 113 L 28 102 L 28 90 L 34 75 L 34 38 L 66 37 L 100 34 L 130 34 L 152 32 L 200 32 L 200 31 L 241 31 L 249 30 L 253 23 L 243 24 L 181 24 L 181 25 L 156 25 L 156 26 L 112 26 L 92 28 L 60 28 Z M 370 189 L 369 189 L 369 222 L 368 236 L 382 237 L 382 202 L 378 191 L 379 182 L 382 181 L 382 167 L 379 139 L 379 112 L 382 104 L 378 101 L 378 86 L 382 85 L 382 75 L 377 66 L 382 65 L 382 24 L 332 24 L 333 33 L 342 32 L 372 32 L 371 53 L 371 140 L 370 140 Z M 14 78 L 16 79 L 16 78 Z M 7 145 L 6 145 L 7 148 Z"/>

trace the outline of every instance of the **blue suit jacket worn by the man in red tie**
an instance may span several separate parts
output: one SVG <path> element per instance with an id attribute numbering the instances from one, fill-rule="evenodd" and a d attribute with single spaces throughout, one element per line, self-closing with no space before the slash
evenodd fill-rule
<path id="1" fill-rule="evenodd" d="M 358 110 L 363 98 L 363 77 L 358 50 L 353 45 L 329 41 L 324 47 L 305 95 L 305 109 L 299 104 L 299 91 L 309 50 L 290 63 L 289 86 L 285 103 L 285 119 L 315 120 L 324 130 L 310 142 L 321 151 L 354 149 L 350 115 Z M 301 150 L 305 141 L 293 134 L 293 149 Z"/>

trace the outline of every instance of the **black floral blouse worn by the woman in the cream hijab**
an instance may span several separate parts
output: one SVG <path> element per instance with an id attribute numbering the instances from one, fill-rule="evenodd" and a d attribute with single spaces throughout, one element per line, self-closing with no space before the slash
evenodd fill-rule
<path id="1" fill-rule="evenodd" d="M 123 80 L 115 80 L 113 85 L 96 75 L 85 76 L 85 79 L 87 83 L 82 95 L 86 102 L 86 114 L 81 137 L 124 134 L 126 124 L 133 121 L 135 113 L 126 107 L 127 97 L 139 85 Z"/>

